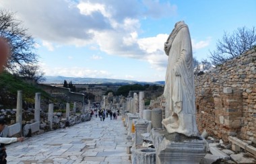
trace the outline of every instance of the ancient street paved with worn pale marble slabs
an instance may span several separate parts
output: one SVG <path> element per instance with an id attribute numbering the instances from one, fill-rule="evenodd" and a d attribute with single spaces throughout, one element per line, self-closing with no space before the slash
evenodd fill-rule
<path id="1" fill-rule="evenodd" d="M 121 116 L 45 132 L 7 145 L 7 163 L 131 163 Z"/>

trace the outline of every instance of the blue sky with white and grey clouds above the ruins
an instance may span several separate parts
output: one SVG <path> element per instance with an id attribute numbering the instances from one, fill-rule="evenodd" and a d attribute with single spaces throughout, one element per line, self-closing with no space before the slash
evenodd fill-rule
<path id="1" fill-rule="evenodd" d="M 164 81 L 164 42 L 181 20 L 193 56 L 224 32 L 256 25 L 255 0 L 1 0 L 32 34 L 45 75 Z"/>

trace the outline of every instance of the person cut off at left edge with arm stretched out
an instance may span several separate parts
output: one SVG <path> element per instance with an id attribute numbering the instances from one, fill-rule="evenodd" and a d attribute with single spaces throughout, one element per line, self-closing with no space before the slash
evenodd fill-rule
<path id="1" fill-rule="evenodd" d="M 16 137 L 13 137 L 13 138 L 6 138 L 6 137 L 2 137 L 3 136 L 3 129 L 5 128 L 5 120 L 3 118 L 0 118 L 0 164 L 5 164 L 7 163 L 6 161 L 6 157 L 7 157 L 7 154 L 5 152 L 5 144 L 9 144 L 11 142 L 16 142 L 16 141 L 20 141 L 22 142 L 24 140 L 23 137 L 19 137 L 19 138 L 16 138 Z"/>

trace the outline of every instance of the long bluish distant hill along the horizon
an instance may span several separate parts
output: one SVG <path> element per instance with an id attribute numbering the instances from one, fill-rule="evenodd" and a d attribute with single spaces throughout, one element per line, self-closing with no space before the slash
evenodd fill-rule
<path id="1" fill-rule="evenodd" d="M 164 85 L 164 81 L 144 82 L 144 81 L 129 81 L 122 79 L 103 79 L 103 78 L 89 78 L 89 77 L 63 77 L 63 76 L 45 76 L 46 81 L 43 83 L 63 83 L 66 80 L 68 83 L 72 81 L 73 84 L 103 84 L 112 83 L 118 85 L 131 85 L 131 84 L 150 84 L 150 85 Z"/>

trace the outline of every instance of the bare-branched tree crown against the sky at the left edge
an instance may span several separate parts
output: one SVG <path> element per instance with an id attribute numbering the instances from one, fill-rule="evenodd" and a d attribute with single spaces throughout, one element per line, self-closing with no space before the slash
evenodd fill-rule
<path id="1" fill-rule="evenodd" d="M 0 36 L 6 38 L 11 48 L 11 56 L 7 62 L 7 69 L 18 72 L 23 65 L 38 62 L 34 52 L 34 39 L 22 28 L 22 22 L 14 18 L 14 13 L 0 10 Z"/>

